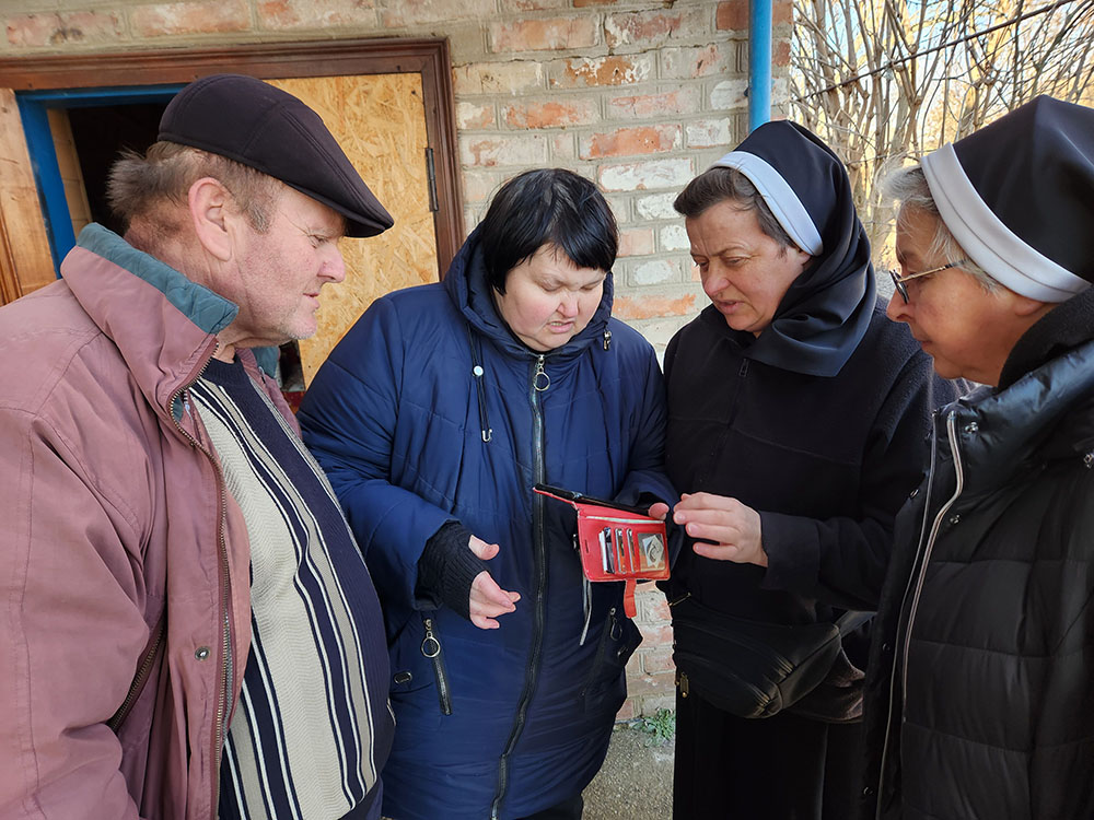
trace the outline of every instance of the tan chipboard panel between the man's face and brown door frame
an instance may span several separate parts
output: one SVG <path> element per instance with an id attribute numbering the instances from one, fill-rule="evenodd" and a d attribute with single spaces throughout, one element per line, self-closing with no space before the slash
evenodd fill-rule
<path id="1" fill-rule="evenodd" d="M 319 298 L 318 332 L 300 342 L 305 385 L 374 298 L 437 281 L 429 210 L 421 75 L 371 74 L 271 80 L 314 108 L 395 226 L 366 239 L 342 239 L 346 281 Z"/>

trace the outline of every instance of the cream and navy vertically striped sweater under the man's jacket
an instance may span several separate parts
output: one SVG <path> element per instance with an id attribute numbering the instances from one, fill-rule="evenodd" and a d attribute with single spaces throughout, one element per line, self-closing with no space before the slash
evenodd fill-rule
<path id="1" fill-rule="evenodd" d="M 190 397 L 251 538 L 252 645 L 220 819 L 379 817 L 394 718 L 380 605 L 321 468 L 238 363 Z"/>

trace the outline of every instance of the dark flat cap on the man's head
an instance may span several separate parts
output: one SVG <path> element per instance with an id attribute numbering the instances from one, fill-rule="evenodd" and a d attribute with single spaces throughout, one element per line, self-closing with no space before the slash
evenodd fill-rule
<path id="1" fill-rule="evenodd" d="M 342 214 L 348 236 L 375 236 L 395 224 L 319 115 L 253 77 L 212 74 L 191 82 L 167 104 L 159 139 L 280 179 Z"/>

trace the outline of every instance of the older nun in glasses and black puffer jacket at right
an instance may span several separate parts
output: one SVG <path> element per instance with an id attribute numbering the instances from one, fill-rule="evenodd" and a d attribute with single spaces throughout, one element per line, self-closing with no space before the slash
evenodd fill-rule
<path id="1" fill-rule="evenodd" d="M 888 314 L 980 386 L 897 519 L 862 817 L 1094 817 L 1094 109 L 1038 97 L 888 187 Z"/>

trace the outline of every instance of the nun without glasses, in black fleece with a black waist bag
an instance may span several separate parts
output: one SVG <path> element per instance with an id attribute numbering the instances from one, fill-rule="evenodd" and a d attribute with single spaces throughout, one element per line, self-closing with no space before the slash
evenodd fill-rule
<path id="1" fill-rule="evenodd" d="M 674 618 L 873 610 L 931 410 L 955 387 L 886 319 L 847 172 L 804 128 L 757 128 L 675 207 L 711 304 L 665 354 L 666 465 L 688 534 L 665 590 Z M 683 641 L 677 629 L 677 653 L 702 652 Z M 765 718 L 678 676 L 677 820 L 850 817 L 865 629 L 842 643 L 824 683 Z M 709 661 L 734 668 L 732 653 Z"/>

